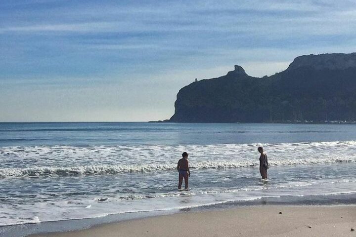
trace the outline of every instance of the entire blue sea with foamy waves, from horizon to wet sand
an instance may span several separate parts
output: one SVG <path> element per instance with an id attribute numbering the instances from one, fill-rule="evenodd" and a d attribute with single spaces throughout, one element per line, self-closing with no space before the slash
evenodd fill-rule
<path id="1" fill-rule="evenodd" d="M 184 151 L 190 189 L 178 191 Z M 327 200 L 356 193 L 356 125 L 0 123 L 0 160 L 0 226 L 263 197 Z"/>

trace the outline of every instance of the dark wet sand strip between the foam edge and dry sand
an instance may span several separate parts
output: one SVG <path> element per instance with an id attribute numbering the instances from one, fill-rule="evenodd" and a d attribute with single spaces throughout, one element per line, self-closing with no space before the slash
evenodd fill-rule
<path id="1" fill-rule="evenodd" d="M 161 211 L 129 212 L 121 214 L 109 214 L 103 217 L 48 221 L 33 224 L 22 224 L 0 227 L 0 237 L 24 237 L 24 236 L 52 236 L 51 233 L 73 233 L 106 225 L 115 225 L 123 222 L 131 222 L 147 218 L 164 217 L 189 213 L 206 213 L 215 211 L 229 211 L 234 209 L 255 208 L 329 208 L 350 207 L 356 213 L 356 194 L 319 195 L 319 196 L 282 196 L 262 197 L 246 201 L 229 201 L 213 205 L 203 205 L 191 208 L 179 208 Z M 355 216 L 356 220 L 356 216 Z M 356 227 L 356 226 L 355 226 Z M 356 228 L 354 228 L 356 229 Z M 45 234 L 41 234 L 45 233 Z M 46 234 L 48 233 L 48 234 Z"/>

